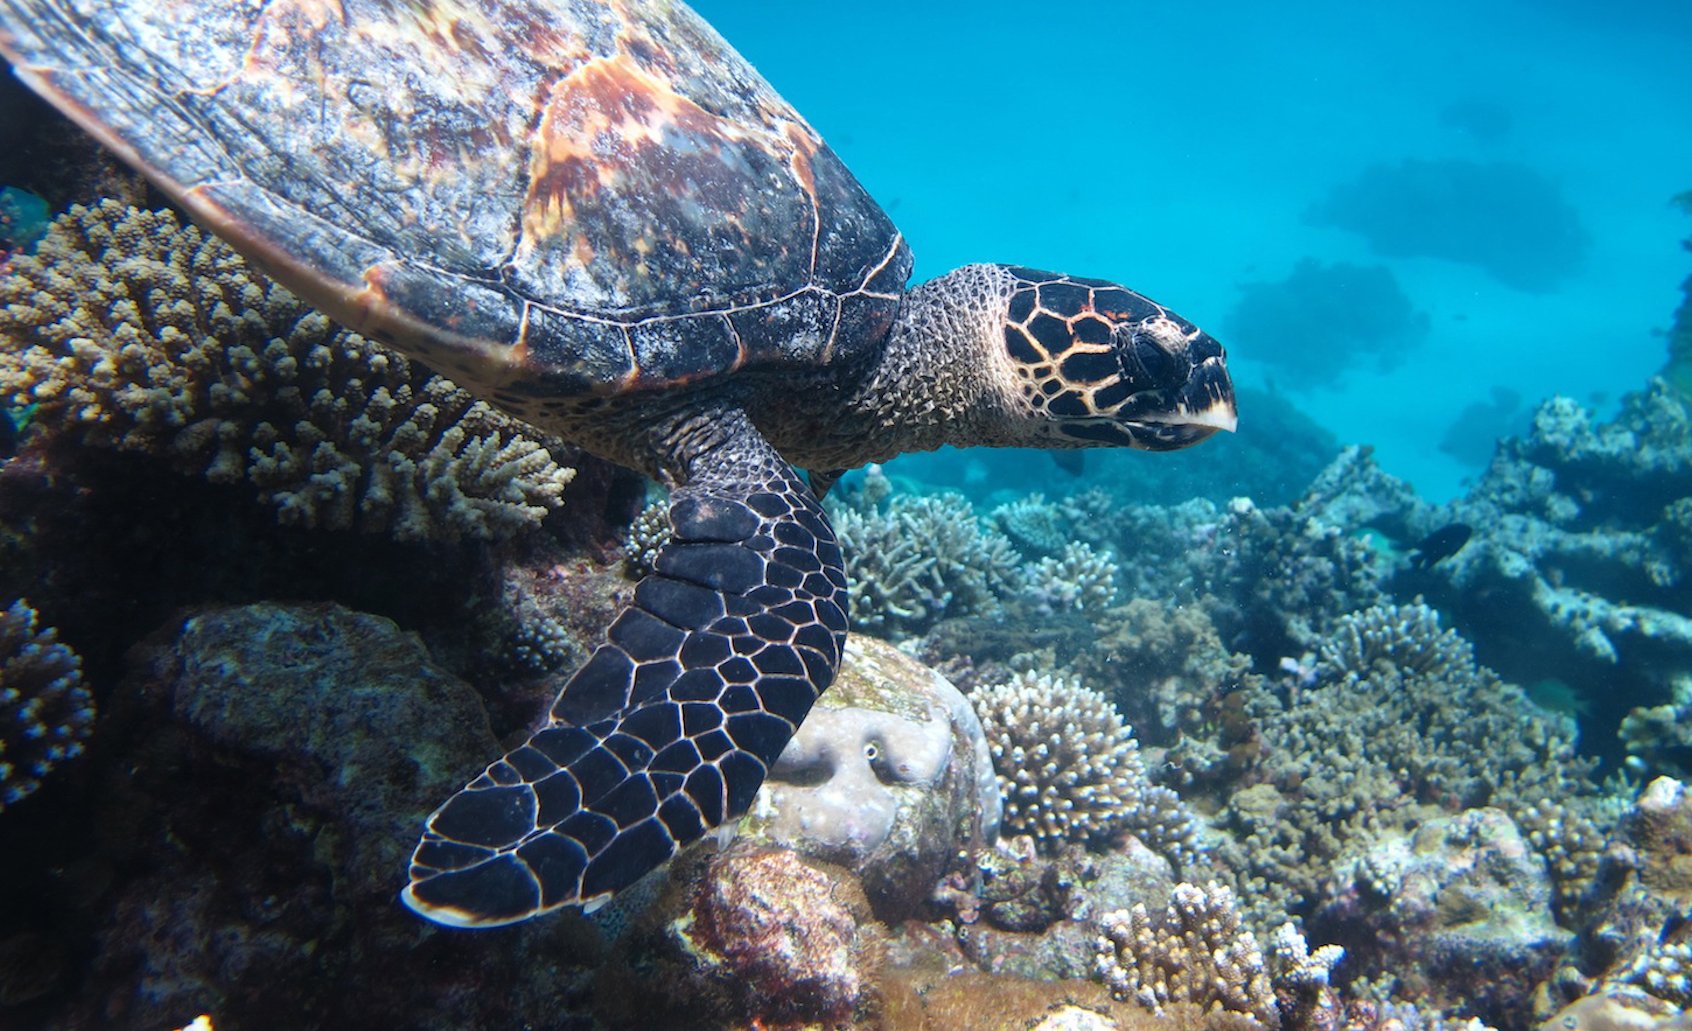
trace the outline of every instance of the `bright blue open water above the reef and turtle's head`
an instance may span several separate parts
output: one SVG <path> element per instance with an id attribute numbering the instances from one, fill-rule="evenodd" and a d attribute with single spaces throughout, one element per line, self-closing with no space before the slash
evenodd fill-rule
<path id="1" fill-rule="evenodd" d="M 919 278 L 1120 279 L 1423 496 L 1460 493 L 1540 400 L 1607 411 L 1663 364 L 1692 222 L 1670 203 L 1692 186 L 1685 5 L 695 7 L 888 208 Z M 1352 220 L 1428 239 L 1384 254 L 1320 223 L 1371 168 Z M 1423 181 L 1394 191 L 1406 168 Z M 1343 278 L 1233 318 L 1301 261 L 1386 267 L 1425 330 L 1367 337 L 1379 298 Z"/>

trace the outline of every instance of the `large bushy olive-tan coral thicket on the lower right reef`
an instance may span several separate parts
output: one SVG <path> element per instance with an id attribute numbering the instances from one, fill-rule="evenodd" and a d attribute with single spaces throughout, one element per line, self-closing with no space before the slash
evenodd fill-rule
<path id="1" fill-rule="evenodd" d="M 1222 823 L 1240 843 L 1230 862 L 1257 919 L 1308 912 L 1332 865 L 1430 809 L 1536 811 L 1546 826 L 1555 806 L 1570 828 L 1602 819 L 1572 725 L 1477 665 L 1430 609 L 1379 606 L 1338 625 L 1320 681 L 1254 679 L 1240 699 L 1261 735 L 1262 782 L 1228 796 Z"/>

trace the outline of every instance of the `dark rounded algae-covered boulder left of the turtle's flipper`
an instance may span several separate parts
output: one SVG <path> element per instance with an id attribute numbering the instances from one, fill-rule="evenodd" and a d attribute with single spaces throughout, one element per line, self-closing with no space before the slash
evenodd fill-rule
<path id="1" fill-rule="evenodd" d="M 161 687 L 205 742 L 271 765 L 349 831 L 357 887 L 387 896 L 409 836 L 497 748 L 475 692 L 415 635 L 340 606 L 250 604 L 183 621 Z"/>

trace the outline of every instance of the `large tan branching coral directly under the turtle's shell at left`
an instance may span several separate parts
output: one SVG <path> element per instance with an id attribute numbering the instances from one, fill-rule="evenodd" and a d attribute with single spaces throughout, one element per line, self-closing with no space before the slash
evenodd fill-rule
<path id="1" fill-rule="evenodd" d="M 284 523 L 501 537 L 574 471 L 530 430 L 343 330 L 169 212 L 54 220 L 0 278 L 0 396 L 46 433 L 245 481 Z"/>

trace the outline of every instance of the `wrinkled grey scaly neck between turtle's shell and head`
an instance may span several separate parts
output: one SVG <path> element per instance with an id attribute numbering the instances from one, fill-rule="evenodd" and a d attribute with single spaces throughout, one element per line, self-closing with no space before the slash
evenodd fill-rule
<path id="1" fill-rule="evenodd" d="M 1014 413 L 1020 406 L 1007 393 L 1008 298 L 1010 276 L 997 266 L 964 266 L 912 289 L 882 359 L 841 403 L 836 432 L 783 454 L 822 445 L 817 450 L 832 450 L 832 460 L 797 460 L 846 469 L 942 444 L 1017 444 L 1014 430 L 1025 416 Z"/>

